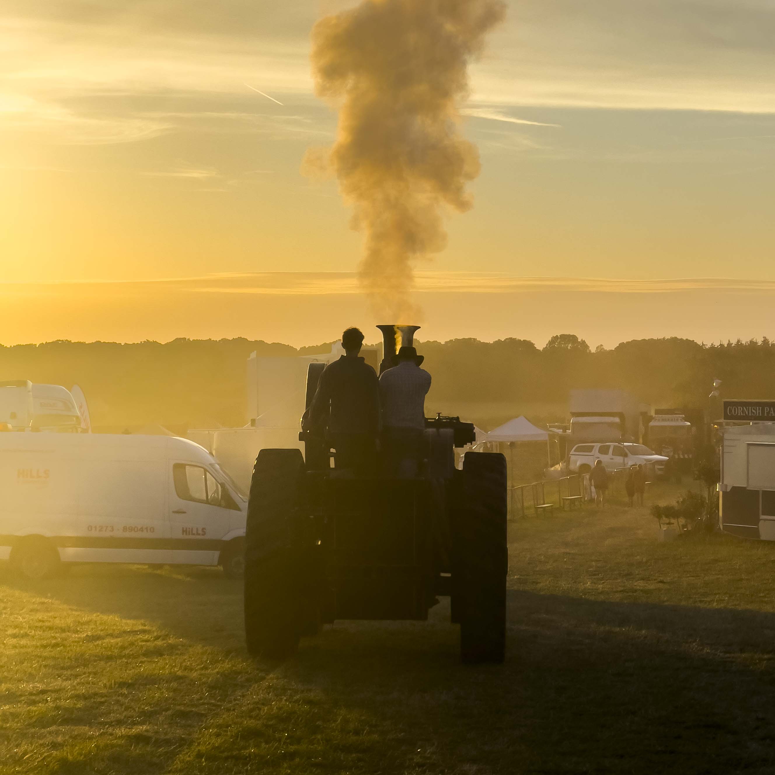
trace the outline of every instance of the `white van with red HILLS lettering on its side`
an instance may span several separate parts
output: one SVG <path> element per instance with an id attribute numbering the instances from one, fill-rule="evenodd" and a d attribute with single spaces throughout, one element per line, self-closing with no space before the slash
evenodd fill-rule
<path id="1" fill-rule="evenodd" d="M 246 496 L 188 439 L 0 434 L 0 560 L 29 577 L 63 563 L 243 570 Z"/>

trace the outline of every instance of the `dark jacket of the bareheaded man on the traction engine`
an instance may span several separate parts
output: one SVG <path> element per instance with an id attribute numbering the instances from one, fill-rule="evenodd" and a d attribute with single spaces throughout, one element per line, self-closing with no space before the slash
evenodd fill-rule
<path id="1" fill-rule="evenodd" d="M 341 356 L 320 375 L 308 421 L 310 430 L 331 433 L 380 432 L 380 387 L 377 372 L 363 358 Z"/>

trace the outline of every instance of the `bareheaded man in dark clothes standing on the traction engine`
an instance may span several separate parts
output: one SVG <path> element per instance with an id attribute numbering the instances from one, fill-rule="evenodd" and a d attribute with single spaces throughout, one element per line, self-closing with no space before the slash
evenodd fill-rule
<path id="1" fill-rule="evenodd" d="M 320 375 L 305 425 L 325 433 L 336 450 L 336 470 L 374 476 L 380 432 L 380 391 L 377 372 L 361 358 L 363 334 L 347 329 L 342 334 L 345 354 L 329 363 Z"/>

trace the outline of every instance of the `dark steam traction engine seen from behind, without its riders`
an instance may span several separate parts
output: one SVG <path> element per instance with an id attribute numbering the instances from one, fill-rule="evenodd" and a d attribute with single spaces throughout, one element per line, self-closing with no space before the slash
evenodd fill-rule
<path id="1" fill-rule="evenodd" d="M 393 365 L 418 326 L 381 325 Z M 307 407 L 324 364 L 307 374 Z M 451 598 L 464 662 L 504 659 L 506 629 L 506 461 L 454 448 L 474 425 L 425 421 L 418 477 L 356 478 L 330 467 L 325 440 L 302 431 L 298 449 L 262 449 L 250 485 L 246 529 L 248 651 L 284 659 L 301 636 L 335 619 L 425 620 L 436 596 Z M 349 476 L 348 476 L 349 474 Z"/>

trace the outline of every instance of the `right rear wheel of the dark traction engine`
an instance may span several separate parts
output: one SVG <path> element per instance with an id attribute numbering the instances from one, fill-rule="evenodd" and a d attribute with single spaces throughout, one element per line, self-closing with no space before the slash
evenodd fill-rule
<path id="1" fill-rule="evenodd" d="M 501 663 L 505 659 L 507 500 L 505 457 L 467 453 L 463 460 L 463 509 L 456 520 L 458 579 L 454 583 L 464 663 Z"/>

